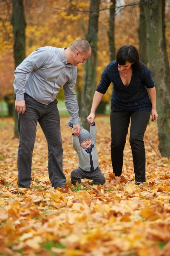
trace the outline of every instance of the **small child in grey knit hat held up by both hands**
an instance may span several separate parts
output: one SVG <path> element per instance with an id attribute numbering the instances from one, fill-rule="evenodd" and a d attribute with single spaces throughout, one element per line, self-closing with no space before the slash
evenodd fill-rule
<path id="1" fill-rule="evenodd" d="M 73 123 L 70 120 L 68 126 L 73 128 Z M 85 130 L 82 125 L 79 136 L 73 135 L 73 148 L 78 155 L 78 168 L 71 172 L 71 183 L 81 183 L 81 179 L 93 180 L 94 184 L 105 183 L 105 177 L 99 169 L 99 161 L 96 151 L 96 125 L 95 122 L 90 126 L 90 133 Z M 75 130 L 76 134 L 76 130 Z"/>

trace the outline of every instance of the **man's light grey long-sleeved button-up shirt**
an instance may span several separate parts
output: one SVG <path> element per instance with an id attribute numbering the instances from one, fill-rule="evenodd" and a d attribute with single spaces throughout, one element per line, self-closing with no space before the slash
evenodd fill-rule
<path id="1" fill-rule="evenodd" d="M 37 102 L 48 105 L 63 86 L 65 106 L 73 124 L 79 124 L 74 92 L 77 67 L 67 62 L 64 49 L 47 46 L 32 52 L 14 72 L 14 92 L 17 100 L 24 100 L 26 92 Z"/>

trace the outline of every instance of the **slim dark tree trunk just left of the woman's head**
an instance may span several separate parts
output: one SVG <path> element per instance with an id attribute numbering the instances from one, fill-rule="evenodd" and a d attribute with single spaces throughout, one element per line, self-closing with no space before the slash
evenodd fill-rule
<path id="1" fill-rule="evenodd" d="M 109 30 L 108 30 L 108 38 L 109 38 L 109 49 L 110 49 L 110 59 L 111 61 L 115 60 L 116 51 L 115 51 L 115 40 L 114 40 L 114 20 L 115 20 L 115 6 L 116 0 L 111 0 L 111 9 L 110 9 L 110 17 L 109 17 Z"/>

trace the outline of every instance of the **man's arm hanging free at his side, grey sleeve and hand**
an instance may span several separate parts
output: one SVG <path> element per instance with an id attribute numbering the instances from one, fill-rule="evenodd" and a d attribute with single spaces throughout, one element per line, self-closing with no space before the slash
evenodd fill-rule
<path id="1" fill-rule="evenodd" d="M 42 67 L 47 51 L 43 48 L 32 52 L 14 71 L 14 93 L 16 93 L 15 110 L 24 113 L 26 104 L 24 100 L 26 75 Z"/>

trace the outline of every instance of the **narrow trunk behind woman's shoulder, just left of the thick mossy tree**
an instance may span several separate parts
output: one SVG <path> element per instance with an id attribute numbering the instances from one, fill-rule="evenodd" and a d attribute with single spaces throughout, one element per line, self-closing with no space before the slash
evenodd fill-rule
<path id="1" fill-rule="evenodd" d="M 143 2 L 143 0 L 141 0 Z M 143 3 L 140 4 L 140 17 L 139 17 L 139 55 L 140 60 L 147 65 L 147 45 L 146 45 L 146 20 L 144 16 L 144 6 Z"/>

